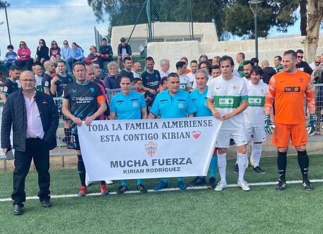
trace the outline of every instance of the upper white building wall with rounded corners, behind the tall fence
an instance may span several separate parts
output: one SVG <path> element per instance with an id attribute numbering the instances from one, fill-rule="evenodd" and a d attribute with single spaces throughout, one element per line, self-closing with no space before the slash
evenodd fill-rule
<path id="1" fill-rule="evenodd" d="M 190 22 L 156 22 L 153 23 L 154 38 L 190 38 Z M 193 23 L 194 37 L 200 37 L 201 42 L 214 43 L 217 41 L 217 35 L 214 23 Z M 116 51 L 120 38 L 129 38 L 133 25 L 112 27 L 111 47 Z M 147 40 L 147 25 L 136 25 L 131 39 Z"/>

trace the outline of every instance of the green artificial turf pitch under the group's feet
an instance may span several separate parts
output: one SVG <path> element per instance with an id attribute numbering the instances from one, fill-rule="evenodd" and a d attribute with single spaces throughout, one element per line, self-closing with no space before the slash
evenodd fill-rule
<path id="1" fill-rule="evenodd" d="M 236 184 L 237 175 L 231 172 L 233 160 L 227 164 L 227 182 Z M 310 156 L 310 176 L 323 179 L 322 155 Z M 266 174 L 248 168 L 245 180 L 249 183 L 277 180 L 276 158 L 261 159 Z M 52 195 L 76 194 L 80 183 L 76 169 L 51 170 Z M 288 156 L 287 180 L 301 180 L 297 156 Z M 193 178 L 185 178 L 189 182 Z M 10 197 L 12 173 L 0 172 L 0 198 Z M 152 189 L 159 179 L 145 179 Z M 135 180 L 128 181 L 135 189 Z M 169 187 L 176 187 L 176 178 Z M 89 193 L 99 192 L 94 183 Z M 119 181 L 108 186 L 115 191 Z M 31 171 L 26 179 L 27 196 L 36 196 L 37 173 Z M 314 183 L 314 191 L 304 191 L 301 184 L 288 184 L 283 192 L 275 186 L 252 186 L 249 192 L 228 188 L 221 192 L 212 189 L 164 191 L 147 194 L 88 196 L 85 198 L 53 198 L 53 207 L 45 209 L 38 200 L 27 200 L 24 214 L 12 215 L 11 202 L 0 202 L 0 233 L 2 234 L 213 234 L 213 233 L 321 233 L 323 230 L 322 183 Z"/>

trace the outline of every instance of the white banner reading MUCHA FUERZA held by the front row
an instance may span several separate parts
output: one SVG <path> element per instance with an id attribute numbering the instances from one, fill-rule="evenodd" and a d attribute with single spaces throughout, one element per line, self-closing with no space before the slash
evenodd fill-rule
<path id="1" fill-rule="evenodd" d="M 96 120 L 78 126 L 89 180 L 207 175 L 215 117 Z"/>

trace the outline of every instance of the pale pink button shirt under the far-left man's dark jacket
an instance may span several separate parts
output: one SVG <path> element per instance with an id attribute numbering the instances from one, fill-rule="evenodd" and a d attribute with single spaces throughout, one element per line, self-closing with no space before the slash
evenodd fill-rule
<path id="1" fill-rule="evenodd" d="M 30 100 L 23 93 L 23 97 L 25 99 L 26 113 L 27 113 L 27 132 L 26 138 L 43 138 L 45 132 L 43 129 L 43 124 L 41 122 L 39 110 L 37 107 L 37 103 L 34 99 L 36 91 Z"/>

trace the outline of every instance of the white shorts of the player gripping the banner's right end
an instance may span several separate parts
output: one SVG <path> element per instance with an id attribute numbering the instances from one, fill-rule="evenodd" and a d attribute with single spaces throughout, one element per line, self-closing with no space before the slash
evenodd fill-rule
<path id="1" fill-rule="evenodd" d="M 248 143 L 247 134 L 243 126 L 239 129 L 220 129 L 217 134 L 215 146 L 218 148 L 228 148 L 230 146 L 230 138 L 235 141 L 236 146 Z"/>

